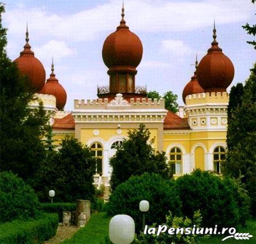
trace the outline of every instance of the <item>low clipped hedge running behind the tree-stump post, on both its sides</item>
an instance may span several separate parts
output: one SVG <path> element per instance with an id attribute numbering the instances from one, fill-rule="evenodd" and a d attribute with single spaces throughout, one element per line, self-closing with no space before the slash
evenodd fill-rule
<path id="1" fill-rule="evenodd" d="M 62 222 L 63 211 L 75 211 L 75 203 L 40 203 L 39 209 L 58 214 L 59 222 Z M 95 198 L 95 202 L 91 202 L 91 210 L 104 211 L 104 200 Z"/>

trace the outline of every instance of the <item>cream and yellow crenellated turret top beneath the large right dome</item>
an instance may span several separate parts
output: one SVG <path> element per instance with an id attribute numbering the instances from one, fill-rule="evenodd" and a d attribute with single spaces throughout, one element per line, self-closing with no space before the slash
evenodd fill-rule
<path id="1" fill-rule="evenodd" d="M 209 92 L 186 96 L 185 113 L 191 129 L 226 130 L 227 92 Z"/>

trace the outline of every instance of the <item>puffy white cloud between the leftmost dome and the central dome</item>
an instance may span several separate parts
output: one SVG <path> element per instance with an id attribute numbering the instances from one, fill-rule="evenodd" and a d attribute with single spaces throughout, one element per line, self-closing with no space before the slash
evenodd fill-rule
<path id="1" fill-rule="evenodd" d="M 33 48 L 36 56 L 42 61 L 49 61 L 54 57 L 54 60 L 60 60 L 63 57 L 72 55 L 74 50 L 70 49 L 64 41 L 51 40 L 41 47 Z"/>

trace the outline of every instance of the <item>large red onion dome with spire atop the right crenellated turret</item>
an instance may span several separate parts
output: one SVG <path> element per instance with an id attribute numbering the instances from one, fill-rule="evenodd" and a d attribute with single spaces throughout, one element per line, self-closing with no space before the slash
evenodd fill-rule
<path id="1" fill-rule="evenodd" d="M 219 48 L 216 37 L 214 23 L 212 47 L 197 68 L 198 83 L 205 92 L 226 92 L 234 78 L 234 65 Z"/>

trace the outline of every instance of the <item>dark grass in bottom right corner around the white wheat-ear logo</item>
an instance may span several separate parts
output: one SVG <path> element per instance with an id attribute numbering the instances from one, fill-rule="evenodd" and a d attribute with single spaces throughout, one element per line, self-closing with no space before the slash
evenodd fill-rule
<path id="1" fill-rule="evenodd" d="M 250 235 L 253 235 L 253 237 L 250 238 L 250 240 L 236 240 L 235 238 L 228 238 L 226 241 L 221 241 L 224 237 L 228 237 L 229 234 L 224 235 L 223 237 L 221 235 L 216 235 L 216 237 L 210 237 L 208 239 L 203 239 L 200 243 L 202 244 L 216 244 L 216 243 L 244 243 L 244 244 L 255 244 L 256 243 L 256 219 L 248 220 L 247 226 L 239 228 L 236 230 L 236 232 L 239 233 L 250 233 Z"/>

